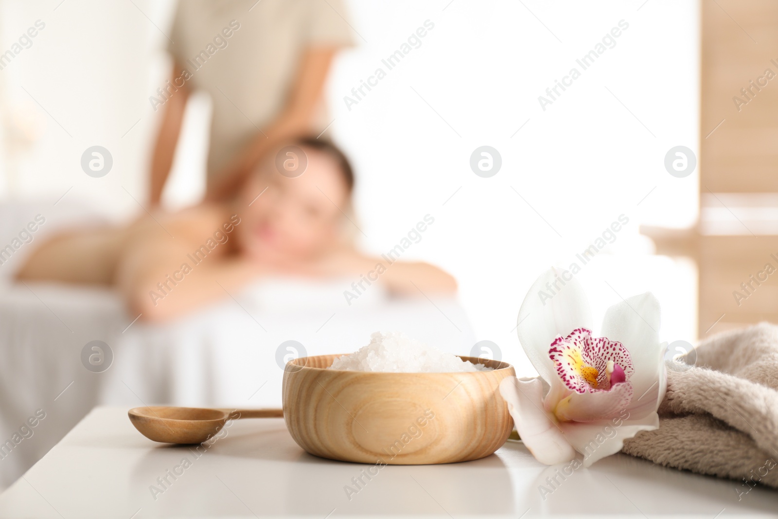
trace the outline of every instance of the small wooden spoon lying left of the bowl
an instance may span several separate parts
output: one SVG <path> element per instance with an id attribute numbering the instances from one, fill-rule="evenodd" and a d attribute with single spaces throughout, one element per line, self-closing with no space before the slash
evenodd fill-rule
<path id="1" fill-rule="evenodd" d="M 135 429 L 163 444 L 202 444 L 222 429 L 228 419 L 282 418 L 282 409 L 204 409 L 152 405 L 127 413 Z"/>

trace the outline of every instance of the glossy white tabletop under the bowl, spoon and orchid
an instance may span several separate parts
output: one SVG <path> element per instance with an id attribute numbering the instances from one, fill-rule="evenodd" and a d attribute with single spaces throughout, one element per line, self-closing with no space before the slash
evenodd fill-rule
<path id="1" fill-rule="evenodd" d="M 196 455 L 193 447 L 142 437 L 127 409 L 98 407 L 0 495 L 0 517 L 338 517 L 379 515 L 533 517 L 603 514 L 651 517 L 775 516 L 778 492 L 679 472 L 617 454 L 579 469 L 545 500 L 555 475 L 519 442 L 454 465 L 387 466 L 346 496 L 370 465 L 302 451 L 282 419 L 241 420 Z M 188 468 L 156 495 L 149 489 L 182 459 Z M 2 462 L 2 461 L 0 461 Z M 353 487 L 356 489 L 356 487 Z M 724 510 L 724 511 L 722 511 Z M 522 515 L 524 514 L 524 515 Z M 717 514 L 720 514 L 717 516 Z"/>

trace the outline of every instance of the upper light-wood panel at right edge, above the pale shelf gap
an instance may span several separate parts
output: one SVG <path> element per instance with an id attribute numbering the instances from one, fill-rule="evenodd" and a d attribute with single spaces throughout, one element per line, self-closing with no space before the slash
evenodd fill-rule
<path id="1" fill-rule="evenodd" d="M 778 191 L 778 2 L 703 0 L 701 16 L 700 189 Z M 767 68 L 749 100 L 741 89 Z"/>

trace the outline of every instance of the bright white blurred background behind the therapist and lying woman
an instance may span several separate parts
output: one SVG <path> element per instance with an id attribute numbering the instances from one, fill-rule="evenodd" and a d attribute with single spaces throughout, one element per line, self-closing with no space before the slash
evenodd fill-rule
<path id="1" fill-rule="evenodd" d="M 456 275 L 478 338 L 530 373 L 513 329 L 526 290 L 549 264 L 577 261 L 624 215 L 629 223 L 576 275 L 597 320 L 622 296 L 652 290 L 663 305 L 663 338 L 696 339 L 695 264 L 653 255 L 639 227 L 680 229 L 698 218 L 699 168 L 678 178 L 664 167 L 675 146 L 699 155 L 698 2 L 348 6 L 357 45 L 338 57 L 328 83 L 333 121 L 325 135 L 356 165 L 364 249 L 387 251 L 432 215 L 435 225 L 407 258 Z M 3 198 L 65 195 L 117 220 L 143 210 L 161 114 L 149 96 L 170 67 L 163 49 L 173 7 L 0 2 L 0 51 L 45 23 L 0 70 Z M 422 44 L 347 106 L 344 96 L 427 20 L 434 28 Z M 604 41 L 618 27 L 619 37 Z M 598 44 L 605 51 L 584 70 L 576 60 Z M 550 99 L 546 90 L 571 68 L 580 77 L 543 106 L 538 97 Z M 208 121 L 209 99 L 195 96 L 164 195 L 170 209 L 202 195 Z M 114 157 L 106 177 L 80 168 L 94 145 Z M 471 170 L 478 146 L 499 151 L 495 176 Z"/>

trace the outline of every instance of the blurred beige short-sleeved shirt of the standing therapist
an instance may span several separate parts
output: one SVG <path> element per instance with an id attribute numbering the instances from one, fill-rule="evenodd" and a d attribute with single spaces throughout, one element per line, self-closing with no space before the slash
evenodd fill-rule
<path id="1" fill-rule="evenodd" d="M 345 16 L 341 0 L 180 0 L 168 50 L 212 97 L 209 185 L 283 110 L 308 47 L 352 44 Z"/>

